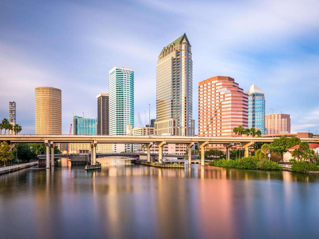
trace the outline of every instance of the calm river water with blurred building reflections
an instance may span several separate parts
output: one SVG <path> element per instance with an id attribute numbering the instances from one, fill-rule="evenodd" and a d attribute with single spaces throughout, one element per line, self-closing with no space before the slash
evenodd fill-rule
<path id="1" fill-rule="evenodd" d="M 319 176 L 62 159 L 0 175 L 0 238 L 318 238 Z"/>

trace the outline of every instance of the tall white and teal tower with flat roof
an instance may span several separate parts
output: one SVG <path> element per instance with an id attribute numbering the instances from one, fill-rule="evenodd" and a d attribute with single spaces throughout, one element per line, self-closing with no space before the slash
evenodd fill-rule
<path id="1" fill-rule="evenodd" d="M 115 66 L 108 73 L 109 134 L 126 135 L 134 128 L 134 71 Z"/>

